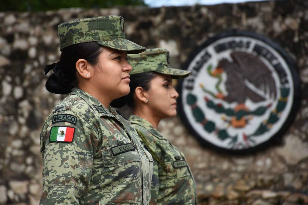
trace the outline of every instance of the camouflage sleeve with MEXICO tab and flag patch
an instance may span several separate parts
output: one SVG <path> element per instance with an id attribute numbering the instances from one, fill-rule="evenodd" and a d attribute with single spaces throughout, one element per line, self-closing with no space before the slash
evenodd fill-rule
<path id="1" fill-rule="evenodd" d="M 71 110 L 43 127 L 43 194 L 40 204 L 79 204 L 90 183 L 98 134 Z"/>

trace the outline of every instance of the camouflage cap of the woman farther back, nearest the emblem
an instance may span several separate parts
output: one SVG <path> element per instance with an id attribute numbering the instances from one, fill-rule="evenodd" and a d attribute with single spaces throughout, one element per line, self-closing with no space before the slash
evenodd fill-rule
<path id="1" fill-rule="evenodd" d="M 147 49 L 143 53 L 127 55 L 128 62 L 132 65 L 130 75 L 155 71 L 172 76 L 172 78 L 183 78 L 190 74 L 190 71 L 170 67 L 169 52 L 167 49 Z"/>

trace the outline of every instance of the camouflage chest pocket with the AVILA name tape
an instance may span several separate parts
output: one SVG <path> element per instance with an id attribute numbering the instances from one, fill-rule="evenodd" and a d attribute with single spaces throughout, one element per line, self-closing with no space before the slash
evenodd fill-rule
<path id="1" fill-rule="evenodd" d="M 185 160 L 167 162 L 167 179 L 176 179 L 189 176 L 188 164 Z"/>

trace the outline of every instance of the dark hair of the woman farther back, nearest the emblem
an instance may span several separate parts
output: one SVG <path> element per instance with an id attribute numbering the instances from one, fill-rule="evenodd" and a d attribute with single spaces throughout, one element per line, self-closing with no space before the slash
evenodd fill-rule
<path id="1" fill-rule="evenodd" d="M 131 82 L 129 83 L 131 91 L 128 93 L 128 95 L 113 100 L 110 105 L 115 108 L 121 108 L 124 105 L 128 105 L 128 107 L 133 109 L 135 107 L 135 89 L 137 87 L 141 87 L 145 91 L 148 91 L 150 89 L 150 81 L 156 76 L 157 74 L 153 71 L 132 74 L 130 77 Z"/>

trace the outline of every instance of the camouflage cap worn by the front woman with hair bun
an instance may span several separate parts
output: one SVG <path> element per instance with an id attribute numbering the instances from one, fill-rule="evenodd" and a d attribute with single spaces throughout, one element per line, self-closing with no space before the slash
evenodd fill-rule
<path id="1" fill-rule="evenodd" d="M 61 51 L 69 45 L 92 41 L 127 53 L 145 51 L 144 47 L 125 39 L 124 18 L 120 16 L 99 16 L 65 22 L 58 26 L 58 32 Z"/>

